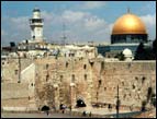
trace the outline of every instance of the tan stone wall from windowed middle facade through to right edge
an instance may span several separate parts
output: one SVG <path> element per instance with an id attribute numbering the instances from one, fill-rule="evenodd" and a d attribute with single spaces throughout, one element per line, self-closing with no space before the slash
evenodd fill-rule
<path id="1" fill-rule="evenodd" d="M 46 68 L 46 64 L 48 67 Z M 46 85 L 59 86 L 58 102 L 76 105 L 77 98 L 82 98 L 88 106 L 91 103 L 115 104 L 119 84 L 121 105 L 138 106 L 147 98 L 149 86 L 155 88 L 155 61 L 104 61 L 104 59 L 49 59 L 36 61 L 36 88 L 43 92 L 44 100 L 53 102 L 43 91 Z M 48 76 L 47 76 L 48 75 Z M 70 83 L 75 84 L 70 98 Z M 49 90 L 47 92 L 54 92 Z M 40 94 L 40 93 L 38 93 Z M 45 98 L 44 98 L 45 97 Z M 53 104 L 53 103 L 52 103 Z"/>

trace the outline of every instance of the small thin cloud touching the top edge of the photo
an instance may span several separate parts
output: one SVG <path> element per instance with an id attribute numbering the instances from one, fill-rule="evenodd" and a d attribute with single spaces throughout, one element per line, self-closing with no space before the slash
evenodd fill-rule
<path id="1" fill-rule="evenodd" d="M 82 9 L 98 9 L 104 7 L 106 4 L 105 1 L 85 1 Z"/>

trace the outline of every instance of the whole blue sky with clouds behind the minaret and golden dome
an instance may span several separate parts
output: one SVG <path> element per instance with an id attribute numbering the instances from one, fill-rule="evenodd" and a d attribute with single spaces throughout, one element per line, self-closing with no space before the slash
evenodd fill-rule
<path id="1" fill-rule="evenodd" d="M 2 1 L 1 43 L 21 41 L 31 37 L 29 19 L 37 7 L 44 21 L 47 41 L 61 40 L 63 23 L 69 43 L 110 43 L 117 17 L 131 12 L 138 15 L 147 27 L 150 39 L 156 37 L 155 1 Z"/>

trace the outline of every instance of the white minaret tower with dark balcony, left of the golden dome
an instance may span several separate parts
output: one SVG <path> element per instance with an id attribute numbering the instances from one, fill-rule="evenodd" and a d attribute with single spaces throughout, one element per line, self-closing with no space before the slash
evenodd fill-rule
<path id="1" fill-rule="evenodd" d="M 43 25 L 44 20 L 41 19 L 41 11 L 40 9 L 35 8 L 33 10 L 33 17 L 30 19 L 30 26 L 31 26 L 31 38 L 38 43 L 43 41 Z"/>

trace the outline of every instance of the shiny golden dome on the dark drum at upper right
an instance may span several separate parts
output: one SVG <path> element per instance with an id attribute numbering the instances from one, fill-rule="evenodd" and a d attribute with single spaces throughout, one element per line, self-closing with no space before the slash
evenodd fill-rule
<path id="1" fill-rule="evenodd" d="M 132 13 L 127 13 L 117 19 L 117 21 L 115 22 L 112 29 L 112 35 L 116 34 L 147 34 L 147 33 L 142 20 Z"/>

